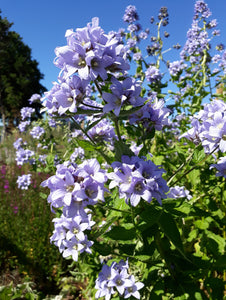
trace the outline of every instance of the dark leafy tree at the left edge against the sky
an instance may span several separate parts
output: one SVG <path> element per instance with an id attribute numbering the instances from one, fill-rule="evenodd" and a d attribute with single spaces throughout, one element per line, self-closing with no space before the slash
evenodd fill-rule
<path id="1" fill-rule="evenodd" d="M 40 104 L 29 104 L 33 94 L 42 94 L 46 88 L 40 83 L 43 74 L 38 62 L 31 57 L 31 49 L 24 44 L 21 36 L 10 28 L 0 10 L 0 118 L 3 123 L 2 139 L 6 126 L 9 130 L 18 122 L 20 110 L 32 106 L 39 114 Z"/>

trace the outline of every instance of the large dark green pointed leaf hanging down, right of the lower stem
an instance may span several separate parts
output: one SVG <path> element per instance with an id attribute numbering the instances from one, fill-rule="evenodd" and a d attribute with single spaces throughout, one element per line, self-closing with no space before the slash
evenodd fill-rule
<path id="1" fill-rule="evenodd" d="M 159 226 L 167 238 L 174 244 L 177 250 L 184 256 L 184 248 L 180 237 L 180 232 L 171 214 L 163 212 L 159 218 Z"/>

